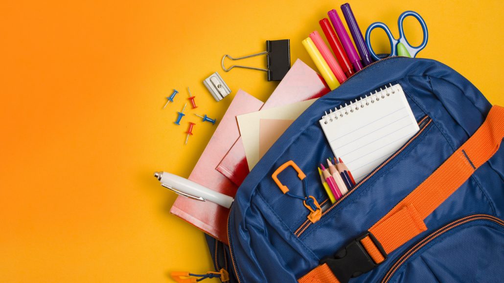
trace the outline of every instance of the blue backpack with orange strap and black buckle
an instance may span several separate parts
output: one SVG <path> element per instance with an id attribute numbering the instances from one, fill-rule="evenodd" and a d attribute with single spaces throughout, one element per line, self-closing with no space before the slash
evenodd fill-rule
<path id="1" fill-rule="evenodd" d="M 402 86 L 420 130 L 331 204 L 317 171 L 332 155 L 319 120 L 389 84 Z M 377 61 L 313 103 L 246 177 L 228 218 L 229 246 L 207 236 L 216 276 L 502 282 L 503 135 L 504 108 L 492 107 L 450 67 L 418 58 Z M 308 206 L 279 189 L 272 174 L 280 167 L 285 186 L 297 194 L 306 189 L 321 204 L 319 221 L 307 220 Z"/>

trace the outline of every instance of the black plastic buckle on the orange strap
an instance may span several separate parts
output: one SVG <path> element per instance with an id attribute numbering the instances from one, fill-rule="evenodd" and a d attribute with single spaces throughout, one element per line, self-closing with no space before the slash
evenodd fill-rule
<path id="1" fill-rule="evenodd" d="M 360 274 L 372 270 L 379 265 L 374 263 L 366 249 L 360 243 L 360 240 L 369 236 L 374 245 L 387 259 L 387 253 L 382 247 L 382 244 L 367 231 L 360 237 L 354 239 L 346 247 L 339 250 L 334 256 L 327 256 L 320 260 L 321 264 L 327 263 L 331 271 L 341 283 L 347 283 L 350 278 L 357 277 Z"/>

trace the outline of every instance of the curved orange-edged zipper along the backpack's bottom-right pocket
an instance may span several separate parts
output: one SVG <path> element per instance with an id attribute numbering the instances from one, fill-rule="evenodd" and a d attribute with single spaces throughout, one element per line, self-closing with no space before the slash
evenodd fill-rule
<path id="1" fill-rule="evenodd" d="M 382 283 L 388 282 L 392 278 L 392 276 L 395 274 L 395 272 L 404 264 L 404 262 L 406 262 L 406 260 L 408 258 L 410 258 L 413 254 L 415 254 L 423 246 L 430 243 L 435 238 L 445 234 L 446 232 L 448 232 L 448 231 L 450 231 L 450 230 L 452 230 L 462 224 L 465 224 L 465 223 L 468 223 L 471 221 L 475 221 L 475 220 L 488 220 L 488 221 L 495 222 L 501 226 L 504 226 L 504 221 L 502 221 L 496 217 L 493 217 L 490 215 L 484 215 L 484 214 L 472 215 L 472 216 L 464 217 L 464 218 L 461 218 L 461 219 L 456 220 L 454 222 L 451 222 L 451 223 L 445 225 L 444 227 L 436 230 L 435 232 L 433 232 L 429 236 L 425 237 L 422 241 L 418 242 L 415 246 L 413 246 L 406 253 L 404 253 L 403 256 L 401 256 L 396 261 L 396 263 L 394 263 L 394 265 L 392 265 L 392 267 L 387 272 L 387 274 L 385 274 L 385 277 L 382 279 Z"/>

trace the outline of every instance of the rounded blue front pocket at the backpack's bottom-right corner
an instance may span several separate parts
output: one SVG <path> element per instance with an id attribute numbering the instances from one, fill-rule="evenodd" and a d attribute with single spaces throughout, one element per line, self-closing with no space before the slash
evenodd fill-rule
<path id="1" fill-rule="evenodd" d="M 490 215 L 456 220 L 399 257 L 382 282 L 501 282 L 504 221 Z"/>

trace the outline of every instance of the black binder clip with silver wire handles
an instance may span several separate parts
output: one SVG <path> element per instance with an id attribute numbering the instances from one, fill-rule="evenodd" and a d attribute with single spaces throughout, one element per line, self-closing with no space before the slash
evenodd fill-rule
<path id="1" fill-rule="evenodd" d="M 241 59 L 265 55 L 265 54 L 267 54 L 266 55 L 266 58 L 267 58 L 267 68 L 266 69 L 241 66 L 241 65 L 232 65 L 229 68 L 226 68 L 224 66 L 224 59 L 226 57 L 228 57 L 231 60 L 241 60 Z M 287 74 L 287 72 L 290 69 L 290 40 L 289 39 L 267 40 L 266 41 L 266 51 L 261 52 L 261 53 L 257 53 L 257 54 L 248 55 L 248 56 L 238 57 L 238 58 L 233 58 L 233 57 L 229 56 L 228 54 L 226 54 L 226 55 L 224 55 L 224 57 L 222 57 L 221 63 L 222 63 L 222 69 L 225 70 L 226 72 L 229 72 L 229 70 L 231 70 L 234 67 L 251 69 L 251 70 L 261 70 L 261 71 L 268 73 L 268 82 L 281 81 L 283 79 L 283 77 L 285 77 L 285 74 Z"/>

